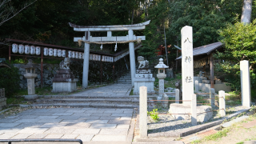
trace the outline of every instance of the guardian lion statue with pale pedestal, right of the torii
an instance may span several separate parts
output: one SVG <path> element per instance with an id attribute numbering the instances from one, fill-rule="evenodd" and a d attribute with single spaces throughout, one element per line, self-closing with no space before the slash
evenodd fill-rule
<path id="1" fill-rule="evenodd" d="M 154 78 L 149 70 L 149 62 L 144 57 L 138 56 L 138 70 L 134 78 L 134 94 L 139 94 L 139 87 L 146 86 L 147 93 L 154 94 Z"/>

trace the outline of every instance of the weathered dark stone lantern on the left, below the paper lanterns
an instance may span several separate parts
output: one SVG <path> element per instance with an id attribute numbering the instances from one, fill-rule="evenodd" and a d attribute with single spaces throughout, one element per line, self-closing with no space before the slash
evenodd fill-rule
<path id="1" fill-rule="evenodd" d="M 27 78 L 27 92 L 28 95 L 24 95 L 24 98 L 27 100 L 33 100 L 38 98 L 38 95 L 35 94 L 34 91 L 34 78 L 38 76 L 38 74 L 35 74 L 35 68 L 37 68 L 33 61 L 29 59 L 29 62 L 26 64 L 26 66 L 23 66 L 26 70 L 26 73 L 24 74 L 24 77 Z"/>

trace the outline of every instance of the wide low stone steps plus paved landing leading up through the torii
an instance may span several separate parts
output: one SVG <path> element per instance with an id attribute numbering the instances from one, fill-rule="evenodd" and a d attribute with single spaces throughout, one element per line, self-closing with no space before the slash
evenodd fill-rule
<path id="1" fill-rule="evenodd" d="M 138 108 L 139 96 L 130 95 L 131 84 L 114 83 L 70 95 L 39 95 L 30 106 Z"/>

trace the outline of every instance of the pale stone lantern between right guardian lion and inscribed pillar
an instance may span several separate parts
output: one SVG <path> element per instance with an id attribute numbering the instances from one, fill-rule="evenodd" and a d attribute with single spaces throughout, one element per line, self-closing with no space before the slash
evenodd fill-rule
<path id="1" fill-rule="evenodd" d="M 158 69 L 157 77 L 159 79 L 159 94 L 163 94 L 165 92 L 165 80 L 164 80 L 166 78 L 165 69 L 169 68 L 169 66 L 166 66 L 162 61 L 163 59 L 160 58 L 158 65 L 154 66 L 154 68 Z"/>

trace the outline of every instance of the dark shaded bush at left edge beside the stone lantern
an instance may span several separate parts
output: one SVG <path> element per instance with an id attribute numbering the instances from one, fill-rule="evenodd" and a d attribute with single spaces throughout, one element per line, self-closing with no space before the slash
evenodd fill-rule
<path id="1" fill-rule="evenodd" d="M 6 98 L 10 98 L 18 90 L 18 68 L 11 65 L 11 69 L 0 67 L 0 88 L 5 88 Z"/>

